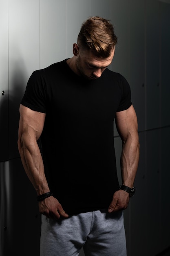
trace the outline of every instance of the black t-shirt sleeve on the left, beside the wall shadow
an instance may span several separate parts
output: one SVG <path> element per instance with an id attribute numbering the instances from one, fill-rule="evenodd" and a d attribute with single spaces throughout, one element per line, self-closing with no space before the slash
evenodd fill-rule
<path id="1" fill-rule="evenodd" d="M 21 104 L 31 110 L 46 113 L 46 83 L 39 70 L 30 76 Z"/>

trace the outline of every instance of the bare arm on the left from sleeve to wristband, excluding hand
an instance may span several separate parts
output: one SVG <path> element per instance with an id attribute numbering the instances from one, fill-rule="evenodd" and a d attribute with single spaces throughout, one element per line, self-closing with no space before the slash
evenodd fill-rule
<path id="1" fill-rule="evenodd" d="M 22 164 L 37 195 L 49 191 L 44 175 L 42 156 L 37 144 L 44 127 L 45 114 L 20 105 L 20 124 L 18 130 L 18 150 Z"/>

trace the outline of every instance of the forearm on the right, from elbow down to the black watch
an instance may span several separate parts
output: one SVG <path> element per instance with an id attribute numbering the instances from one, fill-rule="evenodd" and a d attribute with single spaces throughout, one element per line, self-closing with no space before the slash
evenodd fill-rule
<path id="1" fill-rule="evenodd" d="M 121 177 L 122 184 L 132 187 L 139 163 L 139 139 L 138 134 L 130 136 L 123 142 L 121 153 Z"/>

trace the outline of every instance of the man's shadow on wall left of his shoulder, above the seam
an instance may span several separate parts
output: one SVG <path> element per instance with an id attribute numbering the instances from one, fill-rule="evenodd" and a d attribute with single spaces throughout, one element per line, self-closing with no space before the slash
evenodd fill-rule
<path id="1" fill-rule="evenodd" d="M 18 125 L 19 106 L 27 83 L 27 76 L 22 60 L 12 63 L 12 74 L 9 76 L 9 90 L 0 92 L 0 162 L 19 156 Z M 9 70 L 10 72 L 10 70 Z"/>

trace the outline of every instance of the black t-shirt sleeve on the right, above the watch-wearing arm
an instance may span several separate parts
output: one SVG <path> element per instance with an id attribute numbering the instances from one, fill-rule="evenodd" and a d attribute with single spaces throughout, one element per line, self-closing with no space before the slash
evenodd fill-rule
<path id="1" fill-rule="evenodd" d="M 121 101 L 119 104 L 119 107 L 117 109 L 117 112 L 126 110 L 130 108 L 132 105 L 131 102 L 131 90 L 130 90 L 130 85 L 128 81 L 124 78 L 124 76 L 120 75 L 120 89 L 121 89 Z"/>

